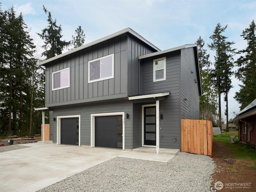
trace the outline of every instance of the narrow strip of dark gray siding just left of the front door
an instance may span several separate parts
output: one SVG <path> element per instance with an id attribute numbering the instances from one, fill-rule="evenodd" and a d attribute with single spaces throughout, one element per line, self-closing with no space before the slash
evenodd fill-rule
<path id="1" fill-rule="evenodd" d="M 141 139 L 142 139 L 142 127 L 141 127 L 141 104 L 134 103 L 133 104 L 133 126 L 132 126 L 132 144 L 133 148 L 141 147 Z"/>

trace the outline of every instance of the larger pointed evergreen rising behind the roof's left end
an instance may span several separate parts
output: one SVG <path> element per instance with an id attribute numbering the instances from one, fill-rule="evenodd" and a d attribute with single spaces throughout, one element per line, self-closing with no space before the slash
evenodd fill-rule
<path id="1" fill-rule="evenodd" d="M 57 25 L 56 19 L 52 19 L 51 12 L 49 12 L 44 6 L 43 10 L 46 14 L 48 13 L 48 27 L 42 30 L 42 34 L 37 34 L 42 38 L 42 40 L 44 40 L 44 45 L 42 46 L 44 52 L 42 53 L 42 56 L 46 56 L 46 59 L 49 59 L 62 54 L 62 50 L 69 46 L 70 41 L 66 42 L 65 40 L 61 40 L 61 25 Z"/>

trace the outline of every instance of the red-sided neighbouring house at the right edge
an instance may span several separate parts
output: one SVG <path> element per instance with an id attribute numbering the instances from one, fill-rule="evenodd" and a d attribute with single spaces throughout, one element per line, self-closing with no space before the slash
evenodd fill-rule
<path id="1" fill-rule="evenodd" d="M 239 139 L 244 143 L 250 143 L 256 147 L 256 99 L 232 119 L 238 120 Z"/>

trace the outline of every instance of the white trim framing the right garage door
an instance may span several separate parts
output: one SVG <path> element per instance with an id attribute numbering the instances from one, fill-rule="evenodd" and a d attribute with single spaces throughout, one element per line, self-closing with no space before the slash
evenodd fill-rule
<path id="1" fill-rule="evenodd" d="M 97 114 L 91 114 L 91 147 L 95 147 L 95 117 L 97 116 L 114 116 L 114 115 L 122 115 L 123 120 L 123 130 L 122 130 L 122 142 L 123 147 L 122 150 L 124 150 L 124 112 L 113 112 L 113 113 L 97 113 Z"/>

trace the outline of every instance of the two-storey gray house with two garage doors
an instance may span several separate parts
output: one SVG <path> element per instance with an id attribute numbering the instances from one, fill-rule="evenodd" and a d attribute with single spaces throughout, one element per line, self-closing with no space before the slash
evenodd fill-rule
<path id="1" fill-rule="evenodd" d="M 180 120 L 199 119 L 196 44 L 159 50 L 126 28 L 39 65 L 56 144 L 180 149 Z"/>

